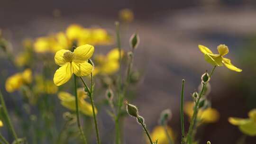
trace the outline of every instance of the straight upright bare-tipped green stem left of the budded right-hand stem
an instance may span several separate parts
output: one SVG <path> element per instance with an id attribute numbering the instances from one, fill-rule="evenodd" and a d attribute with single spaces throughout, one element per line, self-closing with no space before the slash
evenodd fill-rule
<path id="1" fill-rule="evenodd" d="M 181 127 L 182 127 L 182 144 L 184 144 L 184 137 L 185 137 L 185 130 L 184 130 L 184 111 L 183 111 L 183 104 L 184 104 L 184 83 L 185 80 L 182 80 L 182 91 L 181 91 L 181 108 L 180 108 L 180 113 L 181 113 Z"/>

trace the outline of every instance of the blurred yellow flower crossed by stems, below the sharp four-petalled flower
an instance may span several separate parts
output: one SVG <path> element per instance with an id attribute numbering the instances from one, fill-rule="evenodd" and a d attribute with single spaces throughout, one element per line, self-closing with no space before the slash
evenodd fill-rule
<path id="1" fill-rule="evenodd" d="M 93 116 L 92 107 L 91 104 L 86 102 L 84 99 L 86 99 L 88 96 L 86 92 L 82 88 L 77 89 L 77 97 L 78 97 L 78 106 L 79 110 L 87 116 Z M 75 111 L 75 96 L 71 95 L 68 92 L 59 92 L 58 98 L 61 100 L 61 104 L 70 110 Z M 97 109 L 95 109 L 95 113 L 97 114 Z"/>

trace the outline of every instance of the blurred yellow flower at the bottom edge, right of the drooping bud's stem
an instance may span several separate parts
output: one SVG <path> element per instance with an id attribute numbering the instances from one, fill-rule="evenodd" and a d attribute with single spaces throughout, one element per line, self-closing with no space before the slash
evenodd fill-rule
<path id="1" fill-rule="evenodd" d="M 174 140 L 174 132 L 171 127 L 167 126 L 168 134 L 170 135 L 171 139 Z M 169 140 L 167 135 L 165 134 L 165 128 L 163 126 L 155 126 L 151 133 L 152 141 L 158 139 L 157 144 L 169 144 Z"/>

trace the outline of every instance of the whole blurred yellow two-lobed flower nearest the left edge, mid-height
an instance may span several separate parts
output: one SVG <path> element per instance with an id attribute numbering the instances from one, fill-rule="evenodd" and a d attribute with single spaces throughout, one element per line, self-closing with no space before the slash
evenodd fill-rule
<path id="1" fill-rule="evenodd" d="M 24 72 L 16 73 L 5 81 L 5 89 L 8 92 L 18 90 L 23 84 L 29 84 L 32 82 L 32 72 L 30 69 L 26 69 Z"/>

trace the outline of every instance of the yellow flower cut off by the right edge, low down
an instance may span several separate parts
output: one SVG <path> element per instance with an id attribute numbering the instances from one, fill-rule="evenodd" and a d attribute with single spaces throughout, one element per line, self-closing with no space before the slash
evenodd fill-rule
<path id="1" fill-rule="evenodd" d="M 246 135 L 256 136 L 256 108 L 248 113 L 249 118 L 229 117 L 229 123 L 238 126 Z"/>

